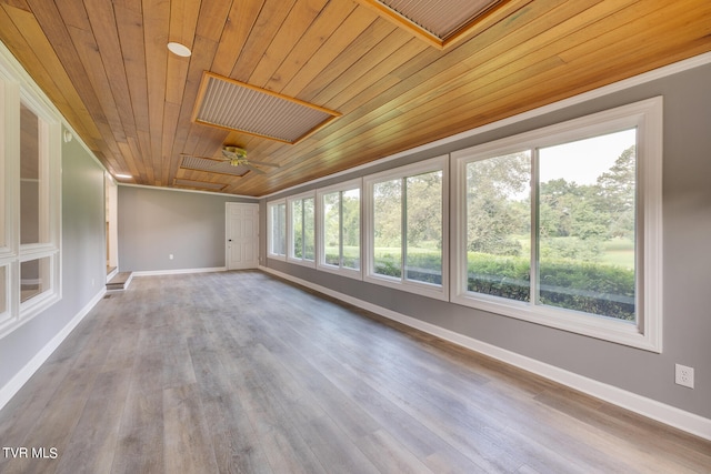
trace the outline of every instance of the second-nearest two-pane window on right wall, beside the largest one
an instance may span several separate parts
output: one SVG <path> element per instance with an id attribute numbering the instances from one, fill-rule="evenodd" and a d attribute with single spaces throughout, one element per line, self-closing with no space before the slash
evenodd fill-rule
<path id="1" fill-rule="evenodd" d="M 447 157 L 365 181 L 367 280 L 448 299 Z"/>

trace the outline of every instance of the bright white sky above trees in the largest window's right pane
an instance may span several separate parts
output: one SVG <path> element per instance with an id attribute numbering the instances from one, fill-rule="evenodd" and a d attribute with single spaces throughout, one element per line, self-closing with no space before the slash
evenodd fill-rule
<path id="1" fill-rule="evenodd" d="M 622 152 L 635 143 L 635 130 L 541 148 L 540 181 L 563 178 L 578 184 L 594 184 Z"/>

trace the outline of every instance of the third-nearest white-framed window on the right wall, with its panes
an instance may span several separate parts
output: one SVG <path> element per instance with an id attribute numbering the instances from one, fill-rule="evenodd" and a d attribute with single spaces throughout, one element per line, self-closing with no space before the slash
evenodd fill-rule
<path id="1" fill-rule="evenodd" d="M 319 270 L 361 278 L 360 180 L 319 190 Z"/>

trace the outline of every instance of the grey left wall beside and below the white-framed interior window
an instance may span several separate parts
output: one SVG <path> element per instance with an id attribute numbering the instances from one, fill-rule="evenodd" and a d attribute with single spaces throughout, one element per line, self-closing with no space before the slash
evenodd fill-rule
<path id="1" fill-rule="evenodd" d="M 104 225 L 103 168 L 77 140 L 63 143 L 62 299 L 0 340 L 0 387 L 103 290 Z"/>

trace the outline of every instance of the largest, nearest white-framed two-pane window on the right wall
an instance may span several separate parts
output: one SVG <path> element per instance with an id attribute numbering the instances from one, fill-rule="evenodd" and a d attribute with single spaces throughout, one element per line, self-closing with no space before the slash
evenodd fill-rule
<path id="1" fill-rule="evenodd" d="M 661 99 L 453 154 L 453 301 L 661 351 Z"/>

